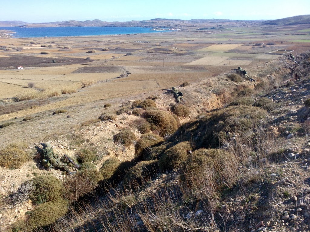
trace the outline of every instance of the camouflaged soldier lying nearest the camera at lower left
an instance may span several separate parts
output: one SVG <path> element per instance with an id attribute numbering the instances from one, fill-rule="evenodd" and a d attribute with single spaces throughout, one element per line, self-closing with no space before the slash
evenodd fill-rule
<path id="1" fill-rule="evenodd" d="M 58 155 L 54 153 L 53 148 L 49 142 L 46 142 L 43 147 L 43 159 L 42 164 L 48 170 L 52 170 L 53 168 L 61 168 L 68 175 L 73 175 L 76 172 L 70 172 L 68 165 L 61 162 Z"/>

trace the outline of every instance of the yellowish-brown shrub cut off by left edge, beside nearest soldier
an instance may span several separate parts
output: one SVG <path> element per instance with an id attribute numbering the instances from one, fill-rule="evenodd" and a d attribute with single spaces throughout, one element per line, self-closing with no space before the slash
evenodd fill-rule
<path id="1" fill-rule="evenodd" d="M 12 143 L 0 150 L 0 167 L 20 168 L 32 156 L 25 152 L 28 146 L 25 143 Z"/>

